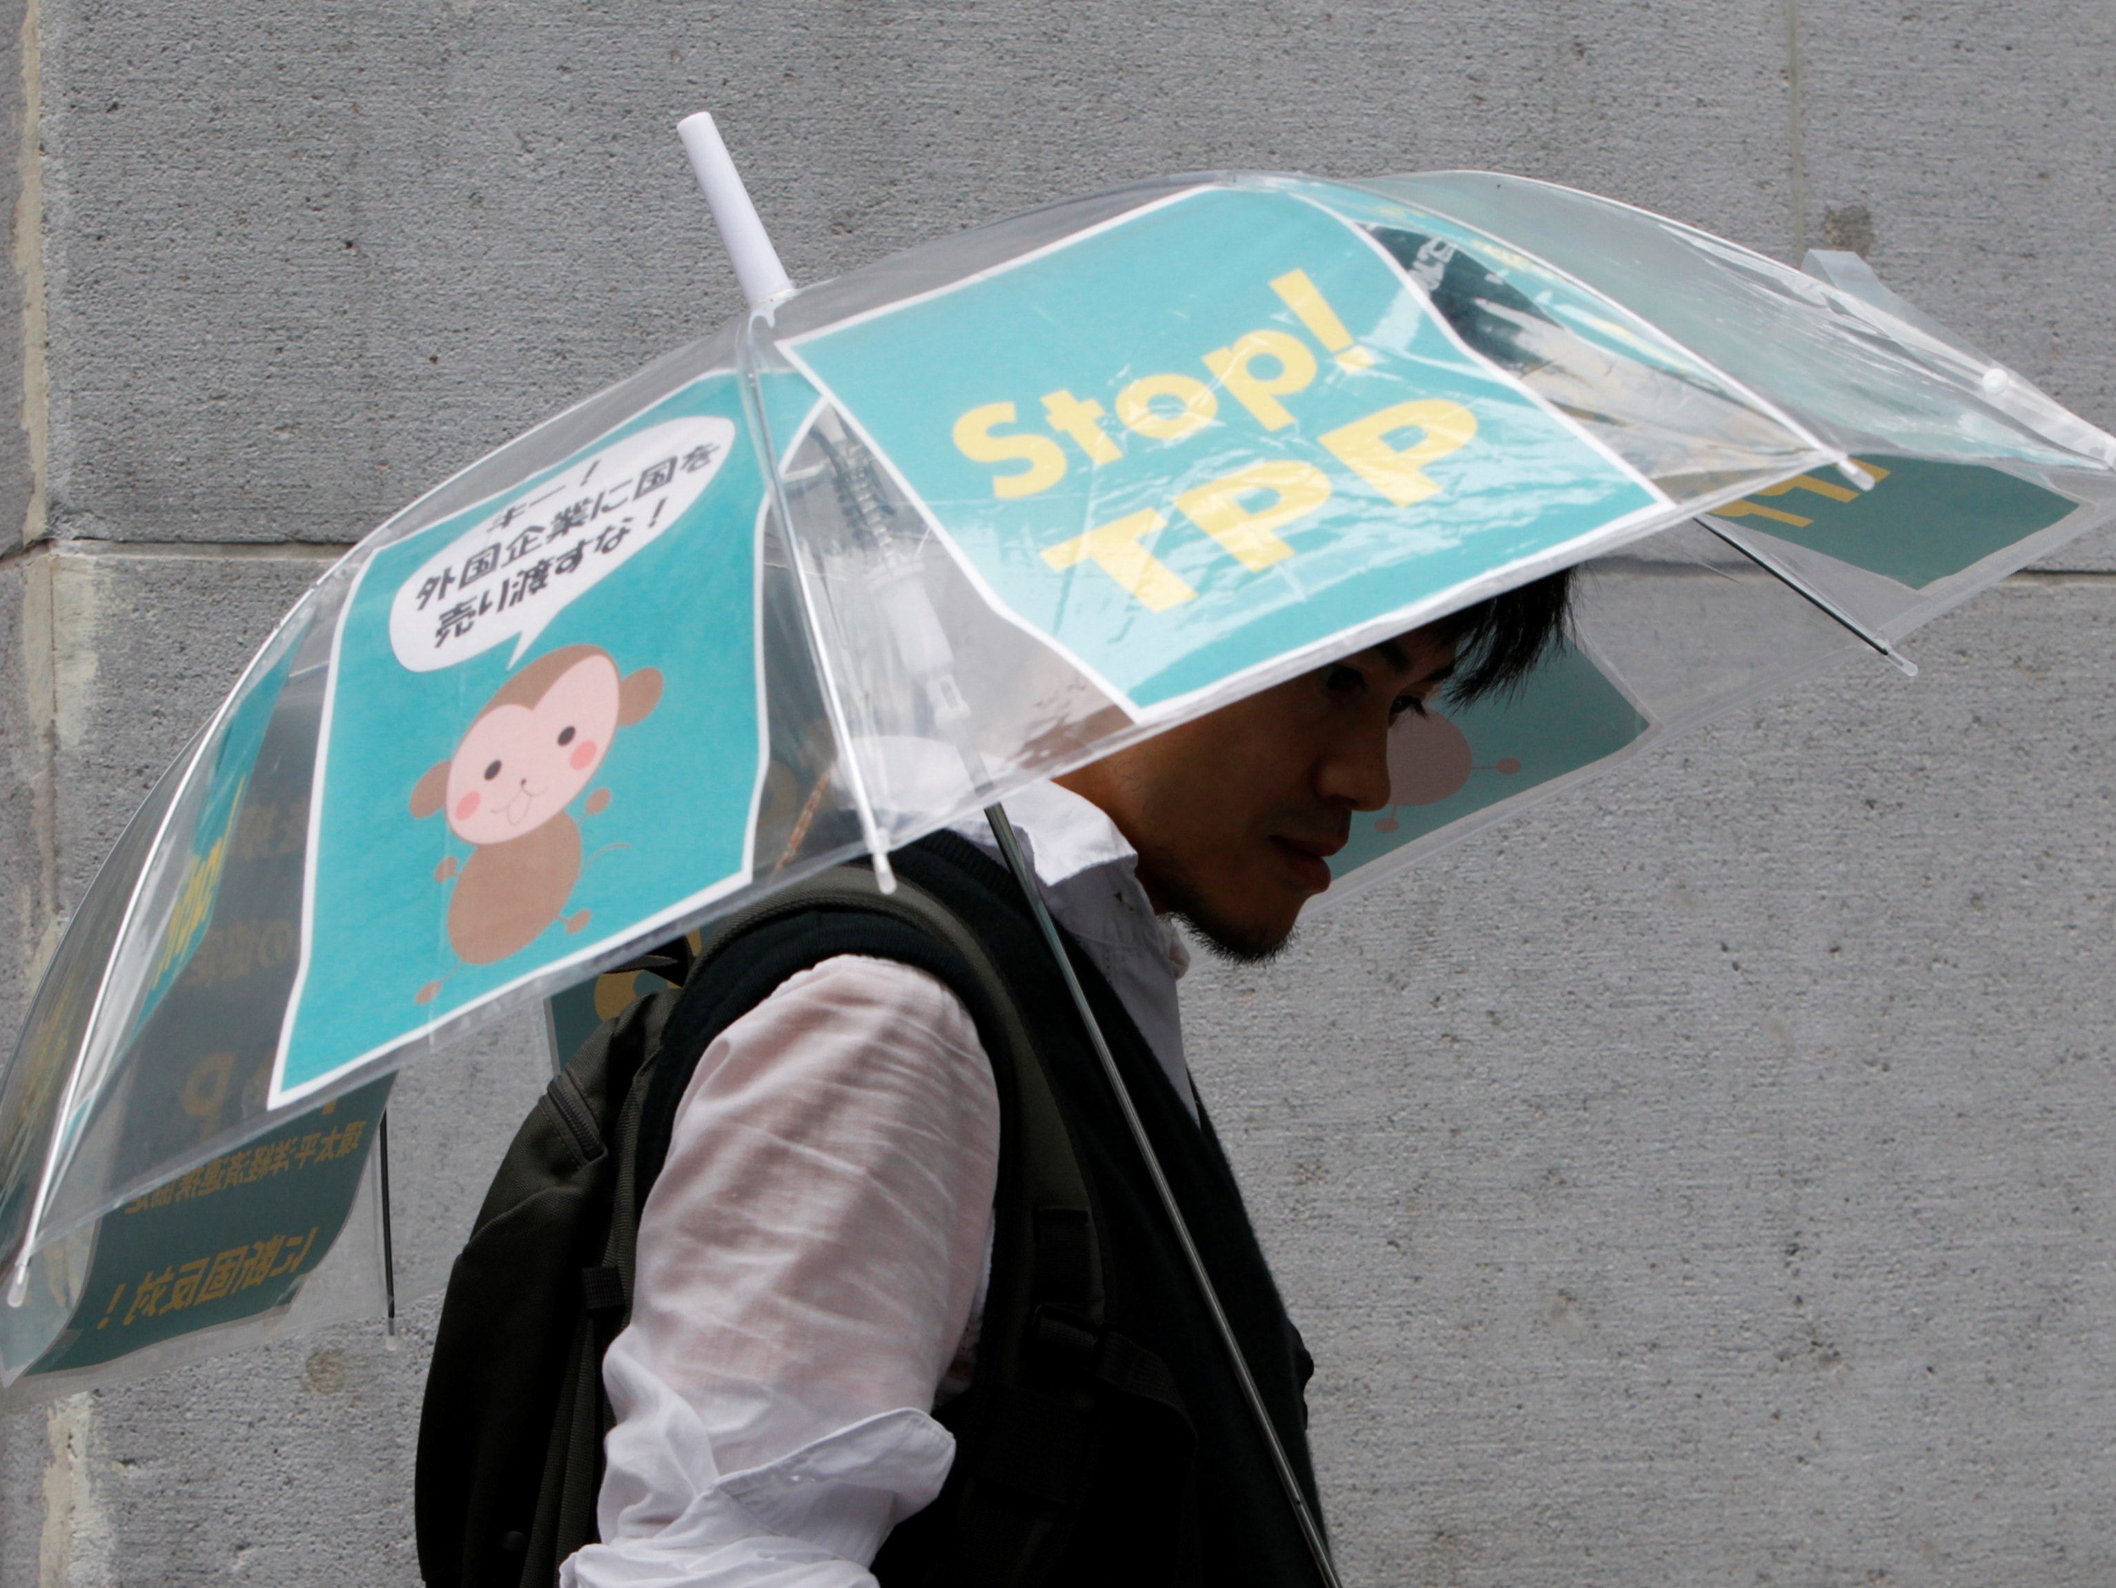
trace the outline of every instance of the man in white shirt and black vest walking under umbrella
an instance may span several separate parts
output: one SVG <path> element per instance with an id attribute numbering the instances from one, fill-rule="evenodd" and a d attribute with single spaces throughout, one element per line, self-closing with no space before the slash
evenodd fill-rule
<path id="1" fill-rule="evenodd" d="M 1329 887 L 1352 813 L 1388 805 L 1390 724 L 1449 680 L 1452 699 L 1515 684 L 1559 642 L 1566 593 L 1564 574 L 1511 591 L 1007 802 L 1310 1497 L 1306 1353 L 1191 1090 L 1174 921 L 1217 953 L 1274 955 Z M 961 1565 L 971 1546 L 956 1535 L 1005 1527 L 1007 1558 L 1039 1560 L 1054 1584 L 1314 1580 L 1166 1220 L 1138 1188 L 1138 1154 L 992 855 L 975 822 L 904 851 L 904 870 L 988 944 L 1020 1001 L 1092 1184 L 1107 1332 L 1134 1364 L 1111 1372 L 1102 1342 L 1102 1400 L 1130 1400 L 1081 1425 L 1062 1472 L 1050 1457 L 1062 1423 L 1026 1438 L 1020 1419 L 975 1423 L 975 1461 L 959 1450 L 950 1410 L 1001 1355 L 1014 1361 L 982 1323 L 995 1283 L 1024 1262 L 995 1217 L 1001 1143 L 1020 1122 L 956 989 L 887 955 L 821 957 L 709 1042 L 677 1105 L 641 1213 L 631 1325 L 603 1361 L 618 1416 L 603 1541 L 565 1563 L 567 1588 L 1001 1588 Z M 959 1461 L 954 1499 L 933 1505 Z M 1041 1510 L 992 1520 L 1009 1501 L 965 1499 L 969 1467 L 1011 1467 Z"/>

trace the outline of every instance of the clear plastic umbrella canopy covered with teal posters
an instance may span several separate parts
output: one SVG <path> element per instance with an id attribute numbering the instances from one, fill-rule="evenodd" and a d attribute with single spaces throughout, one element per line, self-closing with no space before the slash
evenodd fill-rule
<path id="1" fill-rule="evenodd" d="M 148 798 L 0 1086 L 0 1374 L 290 1317 L 398 1065 L 821 866 L 1585 563 L 1394 730 L 1346 891 L 2112 502 L 1854 256 L 1519 178 L 1172 178 L 785 296 L 360 542 Z"/>

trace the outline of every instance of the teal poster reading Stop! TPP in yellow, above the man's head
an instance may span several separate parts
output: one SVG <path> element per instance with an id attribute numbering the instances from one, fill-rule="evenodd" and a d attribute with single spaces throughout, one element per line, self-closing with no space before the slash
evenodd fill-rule
<path id="1" fill-rule="evenodd" d="M 1280 193 L 1183 193 L 785 349 L 995 606 L 1147 718 L 1665 508 Z"/>

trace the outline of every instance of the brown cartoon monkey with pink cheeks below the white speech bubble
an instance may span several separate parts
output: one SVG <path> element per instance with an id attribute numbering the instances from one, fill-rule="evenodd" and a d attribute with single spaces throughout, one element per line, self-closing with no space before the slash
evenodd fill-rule
<path id="1" fill-rule="evenodd" d="M 415 817 L 446 809 L 449 830 L 474 847 L 449 900 L 449 944 L 463 963 L 506 959 L 565 913 L 580 881 L 580 828 L 565 807 L 595 777 L 618 728 L 647 716 L 660 690 L 652 667 L 626 678 L 601 646 L 561 646 L 501 684 L 455 754 L 413 788 Z M 605 805 L 607 788 L 588 796 L 590 815 Z M 434 872 L 436 881 L 455 874 L 455 855 Z M 578 910 L 565 930 L 586 923 Z M 440 982 L 427 982 L 419 1001 L 438 991 Z"/>

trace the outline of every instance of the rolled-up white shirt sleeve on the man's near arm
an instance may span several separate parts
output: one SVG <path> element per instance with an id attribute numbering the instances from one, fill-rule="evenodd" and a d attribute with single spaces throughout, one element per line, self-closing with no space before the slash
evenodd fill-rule
<path id="1" fill-rule="evenodd" d="M 933 976 L 844 955 L 730 1025 L 641 1209 L 603 1541 L 561 1588 L 872 1588 L 954 1459 L 929 1412 L 997 1173 L 990 1061 Z"/>

